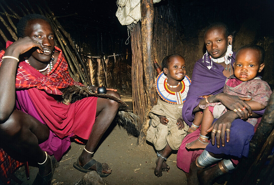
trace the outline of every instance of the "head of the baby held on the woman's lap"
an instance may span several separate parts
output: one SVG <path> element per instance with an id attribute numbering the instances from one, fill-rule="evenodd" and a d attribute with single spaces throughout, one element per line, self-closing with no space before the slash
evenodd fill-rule
<path id="1" fill-rule="evenodd" d="M 254 79 L 264 68 L 264 49 L 255 44 L 241 47 L 235 58 L 234 76 L 243 82 Z"/>

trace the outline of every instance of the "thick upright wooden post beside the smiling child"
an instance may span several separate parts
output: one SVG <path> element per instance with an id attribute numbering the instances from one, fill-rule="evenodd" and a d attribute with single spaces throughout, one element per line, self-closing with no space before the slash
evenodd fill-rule
<path id="1" fill-rule="evenodd" d="M 157 100 L 154 66 L 152 57 L 152 33 L 153 33 L 154 8 L 153 0 L 141 0 L 141 43 L 142 43 L 142 62 L 144 70 L 144 90 L 147 99 L 145 111 L 145 120 L 142 123 L 139 145 L 145 143 L 146 133 L 149 128 L 149 111 L 155 105 Z"/>

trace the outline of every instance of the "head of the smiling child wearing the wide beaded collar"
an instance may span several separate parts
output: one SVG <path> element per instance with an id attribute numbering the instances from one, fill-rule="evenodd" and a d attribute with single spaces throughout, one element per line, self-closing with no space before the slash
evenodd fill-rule
<path id="1" fill-rule="evenodd" d="M 162 61 L 162 70 L 167 78 L 182 80 L 185 77 L 185 59 L 182 55 L 172 54 Z"/>

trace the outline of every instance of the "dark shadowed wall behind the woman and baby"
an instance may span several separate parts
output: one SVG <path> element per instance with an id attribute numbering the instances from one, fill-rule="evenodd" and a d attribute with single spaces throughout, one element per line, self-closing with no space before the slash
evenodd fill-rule
<path id="1" fill-rule="evenodd" d="M 195 62 L 205 52 L 204 31 L 210 23 L 221 21 L 233 35 L 232 48 L 258 44 L 266 50 L 265 69 L 260 75 L 273 84 L 273 5 L 274 1 L 194 1 L 175 0 L 180 25 L 180 41 L 176 51 L 187 63 L 192 76 Z"/>

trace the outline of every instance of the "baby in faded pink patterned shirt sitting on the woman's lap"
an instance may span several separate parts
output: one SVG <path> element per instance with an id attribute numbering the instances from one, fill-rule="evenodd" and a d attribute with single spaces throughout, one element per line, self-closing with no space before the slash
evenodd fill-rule
<path id="1" fill-rule="evenodd" d="M 264 49 L 261 46 L 249 44 L 241 47 L 236 53 L 234 67 L 234 75 L 227 78 L 223 92 L 230 95 L 237 95 L 242 97 L 251 97 L 252 100 L 246 101 L 253 111 L 259 111 L 266 108 L 269 100 L 271 89 L 269 85 L 257 77 L 257 73 L 264 68 Z M 203 96 L 206 98 L 208 96 Z M 189 149 L 206 148 L 209 144 L 209 136 L 207 130 L 212 125 L 213 119 L 219 118 L 227 111 L 226 107 L 221 103 L 208 103 L 206 106 L 199 105 L 204 109 L 203 113 L 195 114 L 195 127 L 198 128 L 201 124 L 200 136 L 197 140 L 187 143 L 185 146 Z M 245 109 L 239 108 L 233 110 L 241 112 Z M 257 118 L 249 118 L 247 122 L 253 126 L 257 123 Z M 190 129 L 188 132 L 192 132 Z M 220 132 L 219 130 L 212 130 L 213 132 Z M 226 129 L 226 133 L 230 132 Z"/>

